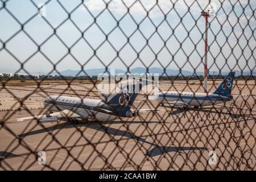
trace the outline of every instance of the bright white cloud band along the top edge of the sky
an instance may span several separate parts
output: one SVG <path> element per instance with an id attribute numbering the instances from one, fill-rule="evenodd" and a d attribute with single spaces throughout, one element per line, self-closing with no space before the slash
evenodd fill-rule
<path id="1" fill-rule="evenodd" d="M 191 12 L 197 13 L 201 12 L 201 10 L 210 10 L 212 9 L 215 13 L 221 7 L 232 7 L 230 3 L 226 3 L 225 1 L 222 2 L 220 0 L 158 0 L 156 6 L 156 0 L 90 0 L 85 1 L 84 5 L 89 9 L 91 12 L 98 12 L 104 11 L 108 4 L 108 9 L 112 13 L 117 13 L 119 15 L 124 15 L 127 13 L 129 8 L 129 12 L 131 15 L 145 15 L 146 12 L 150 12 L 150 16 L 163 16 L 164 14 L 168 14 L 171 10 L 171 13 L 175 13 L 173 10 L 179 11 L 188 11 L 188 8 Z M 231 0 L 233 2 L 233 0 Z M 233 4 L 233 3 L 232 3 Z M 183 14 L 184 12 L 182 12 Z"/>

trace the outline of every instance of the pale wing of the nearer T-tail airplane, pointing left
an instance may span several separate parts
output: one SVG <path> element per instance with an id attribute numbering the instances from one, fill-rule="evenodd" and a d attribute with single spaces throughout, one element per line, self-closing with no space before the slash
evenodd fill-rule
<path id="1" fill-rule="evenodd" d="M 62 110 L 50 115 L 35 115 L 34 117 L 18 118 L 17 121 L 31 121 L 34 119 L 51 119 L 51 118 L 75 118 L 80 117 L 80 115 L 73 113 L 71 110 Z"/>

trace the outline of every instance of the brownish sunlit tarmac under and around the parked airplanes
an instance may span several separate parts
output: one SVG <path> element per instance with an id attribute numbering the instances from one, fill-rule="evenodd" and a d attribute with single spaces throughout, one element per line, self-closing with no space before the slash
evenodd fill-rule
<path id="1" fill-rule="evenodd" d="M 5 110 L 0 108 L 0 170 L 256 168 L 253 94 L 238 97 L 226 105 L 186 111 L 158 106 L 155 101 L 138 96 L 134 108 L 157 107 L 159 111 L 135 118 L 74 125 L 65 121 L 43 124 L 35 120 L 16 121 L 46 113 L 40 109 L 43 107 L 40 101 L 49 93 L 15 88 L 9 91 L 2 89 L 0 92 L 0 107 Z M 14 98 L 12 94 L 19 96 Z M 26 103 L 23 107 L 28 110 L 11 110 L 20 107 L 22 99 Z M 45 165 L 38 162 L 39 151 L 46 152 Z"/>

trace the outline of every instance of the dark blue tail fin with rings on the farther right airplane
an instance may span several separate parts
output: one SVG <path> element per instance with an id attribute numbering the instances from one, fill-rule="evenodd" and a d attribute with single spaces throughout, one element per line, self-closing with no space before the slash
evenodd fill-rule
<path id="1" fill-rule="evenodd" d="M 235 72 L 229 72 L 229 74 L 221 82 L 220 86 L 218 86 L 217 90 L 215 90 L 213 93 L 219 94 L 221 96 L 230 95 L 233 86 L 234 75 Z"/>

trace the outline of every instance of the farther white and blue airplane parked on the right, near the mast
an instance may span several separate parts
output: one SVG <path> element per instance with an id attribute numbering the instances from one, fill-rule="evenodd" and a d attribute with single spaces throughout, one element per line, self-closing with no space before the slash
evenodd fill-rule
<path id="1" fill-rule="evenodd" d="M 156 94 L 152 99 L 158 101 L 160 104 L 168 103 L 183 109 L 194 106 L 209 106 L 213 104 L 220 104 L 221 102 L 228 102 L 233 100 L 230 95 L 233 85 L 235 72 L 229 74 L 221 82 L 217 90 L 213 93 L 193 93 L 193 92 L 162 92 Z"/>

